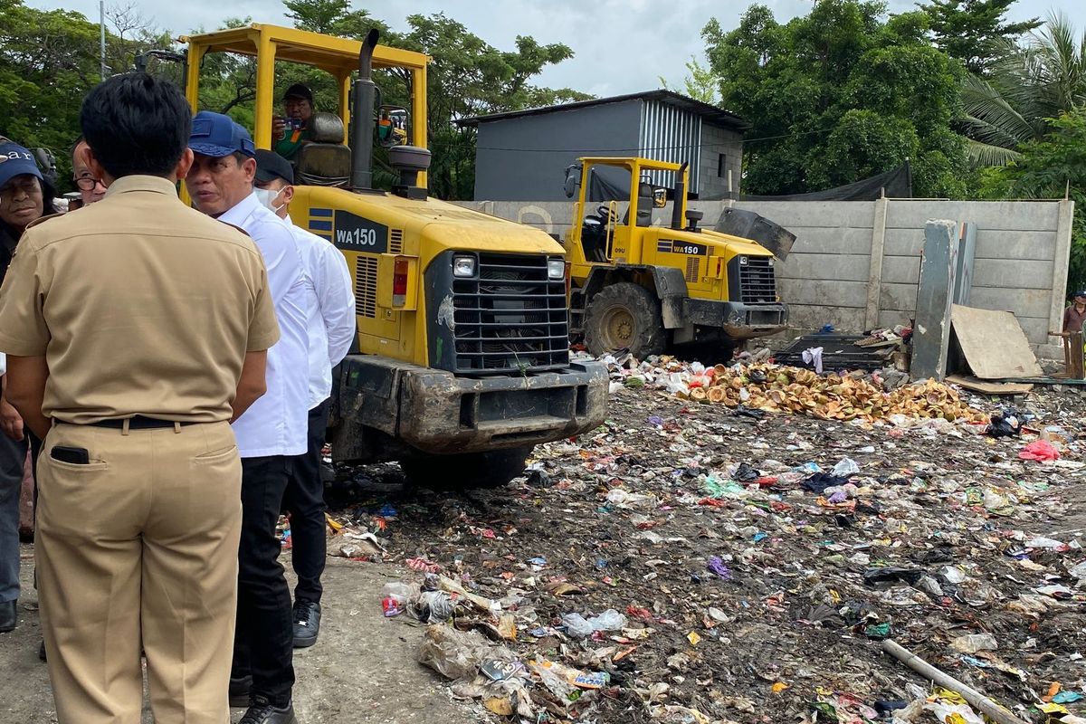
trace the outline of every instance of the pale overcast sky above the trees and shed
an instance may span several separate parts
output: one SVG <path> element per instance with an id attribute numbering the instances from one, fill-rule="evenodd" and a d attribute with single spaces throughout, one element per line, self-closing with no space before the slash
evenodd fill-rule
<path id="1" fill-rule="evenodd" d="M 65 8 L 98 20 L 98 0 L 26 0 L 36 8 Z M 810 11 L 811 0 L 761 0 L 779 22 Z M 211 30 L 228 16 L 249 15 L 254 22 L 289 25 L 282 4 L 276 0 L 106 0 L 106 5 L 134 5 L 144 18 L 175 36 L 203 27 Z M 568 87 L 598 97 L 632 93 L 660 87 L 664 76 L 672 88 L 681 88 L 684 63 L 704 59 L 700 30 L 716 15 L 724 28 L 733 28 L 750 3 L 719 0 L 462 0 L 352 2 L 396 30 L 405 30 L 404 18 L 414 13 L 444 12 L 471 33 L 502 50 L 513 50 L 518 35 L 541 43 L 564 42 L 573 58 L 552 66 L 536 79 L 542 86 Z M 229 8 L 229 10 L 225 10 Z M 889 0 L 891 12 L 914 9 L 911 0 Z M 1045 18 L 1063 12 L 1082 31 L 1086 28 L 1083 0 L 1019 0 L 1010 20 Z"/>

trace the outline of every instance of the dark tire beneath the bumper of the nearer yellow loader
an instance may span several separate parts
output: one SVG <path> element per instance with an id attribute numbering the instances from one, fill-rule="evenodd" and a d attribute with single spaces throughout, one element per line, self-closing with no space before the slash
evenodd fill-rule
<path id="1" fill-rule="evenodd" d="M 502 487 L 525 474 L 525 459 L 534 446 L 465 455 L 417 455 L 400 460 L 407 482 L 435 491 Z"/>

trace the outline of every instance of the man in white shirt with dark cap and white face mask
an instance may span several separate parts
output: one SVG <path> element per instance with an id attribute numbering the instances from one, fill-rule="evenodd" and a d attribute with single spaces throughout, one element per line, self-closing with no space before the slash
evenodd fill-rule
<path id="1" fill-rule="evenodd" d="M 294 195 L 294 172 L 274 151 L 256 151 L 256 196 L 290 223 L 287 209 Z M 346 259 L 320 237 L 293 224 L 290 227 L 306 276 L 310 331 L 308 449 L 294 460 L 283 508 L 290 512 L 291 561 L 294 586 L 294 647 L 317 643 L 320 633 L 320 574 L 325 570 L 325 485 L 320 479 L 320 448 L 328 428 L 332 367 L 340 364 L 355 335 L 354 289 Z"/>

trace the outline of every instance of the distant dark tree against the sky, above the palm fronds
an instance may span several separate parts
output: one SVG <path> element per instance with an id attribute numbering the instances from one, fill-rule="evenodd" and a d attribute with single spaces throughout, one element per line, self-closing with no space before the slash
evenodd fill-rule
<path id="1" fill-rule="evenodd" d="M 1036 17 L 1003 22 L 1014 0 L 930 0 L 917 7 L 931 18 L 935 45 L 964 63 L 970 73 L 983 75 L 999 59 L 1007 41 L 1041 24 Z"/>

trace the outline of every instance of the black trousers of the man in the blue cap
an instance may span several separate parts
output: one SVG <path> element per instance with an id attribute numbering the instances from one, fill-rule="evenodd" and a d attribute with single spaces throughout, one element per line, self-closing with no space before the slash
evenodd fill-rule
<path id="1" fill-rule="evenodd" d="M 277 706 L 294 685 L 294 623 L 276 523 L 294 457 L 241 460 L 241 543 L 238 548 L 238 623 L 232 678 L 252 674 L 253 695 Z"/>

